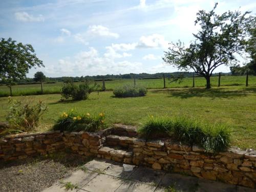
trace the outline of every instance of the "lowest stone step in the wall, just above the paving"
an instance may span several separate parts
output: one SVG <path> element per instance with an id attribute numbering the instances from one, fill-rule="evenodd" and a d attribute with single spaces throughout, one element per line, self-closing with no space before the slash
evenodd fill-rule
<path id="1" fill-rule="evenodd" d="M 98 155 L 101 158 L 114 160 L 126 164 L 132 163 L 133 152 L 121 147 L 103 146 L 98 150 Z"/>

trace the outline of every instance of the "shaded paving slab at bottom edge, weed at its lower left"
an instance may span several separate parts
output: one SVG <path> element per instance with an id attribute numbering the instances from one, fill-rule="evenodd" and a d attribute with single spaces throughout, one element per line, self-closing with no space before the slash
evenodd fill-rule
<path id="1" fill-rule="evenodd" d="M 169 186 L 184 192 L 196 191 L 198 187 L 198 178 L 180 174 L 165 174 L 159 183 L 157 191 L 162 191 L 164 190 L 163 188 L 167 188 Z"/>

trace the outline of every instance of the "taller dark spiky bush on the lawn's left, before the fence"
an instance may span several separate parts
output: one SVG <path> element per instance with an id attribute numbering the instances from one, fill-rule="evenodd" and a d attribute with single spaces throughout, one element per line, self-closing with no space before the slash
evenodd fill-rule
<path id="1" fill-rule="evenodd" d="M 97 89 L 97 84 L 91 86 L 89 80 L 84 81 L 84 83 L 75 85 L 73 82 L 66 82 L 63 84 L 61 89 L 61 95 L 65 99 L 73 100 L 86 100 L 90 93 Z"/>

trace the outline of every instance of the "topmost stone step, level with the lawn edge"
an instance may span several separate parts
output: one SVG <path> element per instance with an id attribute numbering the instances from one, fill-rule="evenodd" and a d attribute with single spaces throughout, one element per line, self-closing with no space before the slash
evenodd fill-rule
<path id="1" fill-rule="evenodd" d="M 124 125 L 124 124 L 113 124 L 113 135 L 126 136 L 126 137 L 136 137 L 137 127 L 133 125 Z"/>

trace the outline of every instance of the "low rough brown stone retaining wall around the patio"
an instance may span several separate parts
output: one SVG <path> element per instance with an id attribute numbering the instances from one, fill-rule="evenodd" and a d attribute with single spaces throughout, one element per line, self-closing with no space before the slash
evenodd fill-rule
<path id="1" fill-rule="evenodd" d="M 6 136 L 0 138 L 0 162 L 71 151 L 80 155 L 143 164 L 199 178 L 256 187 L 255 151 L 244 152 L 238 148 L 230 148 L 227 152 L 218 154 L 205 153 L 198 146 L 190 147 L 161 140 L 145 141 L 135 137 L 109 135 L 111 133 L 111 130 L 98 134 L 55 131 Z M 118 146 L 122 149 L 118 149 Z"/>

